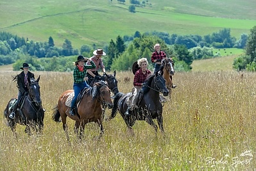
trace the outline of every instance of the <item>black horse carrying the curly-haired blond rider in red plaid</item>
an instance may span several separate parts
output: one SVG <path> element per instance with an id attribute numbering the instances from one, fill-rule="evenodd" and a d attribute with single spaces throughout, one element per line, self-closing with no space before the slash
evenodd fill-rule
<path id="1" fill-rule="evenodd" d="M 114 118 L 117 111 L 121 114 L 128 127 L 128 131 L 133 134 L 132 126 L 135 124 L 136 120 L 145 120 L 149 125 L 153 126 L 155 129 L 155 136 L 157 136 L 157 125 L 153 122 L 153 119 L 157 119 L 160 131 L 164 133 L 163 118 L 162 118 L 162 104 L 159 101 L 159 93 L 162 92 L 164 96 L 168 95 L 168 90 L 166 88 L 166 81 L 162 77 L 163 71 L 160 70 L 156 72 L 155 75 L 149 76 L 145 82 L 144 86 L 148 90 L 144 91 L 142 99 L 139 102 L 139 107 L 131 112 L 130 115 L 125 115 L 128 105 L 127 101 L 131 92 L 128 94 L 123 94 L 119 92 L 114 98 L 114 107 L 112 109 L 110 119 Z"/>

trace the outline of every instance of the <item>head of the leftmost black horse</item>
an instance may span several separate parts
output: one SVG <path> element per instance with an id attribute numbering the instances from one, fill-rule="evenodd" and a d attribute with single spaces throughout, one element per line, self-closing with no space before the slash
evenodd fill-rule
<path id="1" fill-rule="evenodd" d="M 40 76 L 35 79 L 28 79 L 28 95 L 37 106 L 41 106 L 40 86 L 38 84 Z"/>

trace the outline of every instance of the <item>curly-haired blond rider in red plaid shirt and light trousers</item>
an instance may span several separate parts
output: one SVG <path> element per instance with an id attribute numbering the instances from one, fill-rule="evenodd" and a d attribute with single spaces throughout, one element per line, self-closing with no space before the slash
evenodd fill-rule
<path id="1" fill-rule="evenodd" d="M 151 71 L 148 70 L 148 60 L 147 58 L 141 58 L 137 60 L 135 63 L 133 63 L 133 90 L 132 90 L 132 95 L 129 97 L 127 104 L 128 108 L 126 112 L 124 113 L 125 115 L 130 115 L 131 111 L 134 110 L 135 108 L 138 108 L 138 97 L 139 97 L 139 92 L 142 89 L 142 85 L 146 78 L 151 75 Z"/>

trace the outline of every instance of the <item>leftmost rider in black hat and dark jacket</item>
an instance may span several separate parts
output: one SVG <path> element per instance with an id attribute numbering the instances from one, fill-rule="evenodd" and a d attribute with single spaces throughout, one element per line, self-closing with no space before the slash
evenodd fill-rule
<path id="1" fill-rule="evenodd" d="M 23 63 L 22 67 L 20 68 L 23 71 L 17 76 L 13 77 L 13 81 L 17 81 L 17 88 L 19 90 L 19 93 L 17 101 L 12 106 L 12 113 L 10 113 L 9 115 L 10 118 L 15 117 L 15 111 L 19 106 L 19 101 L 21 100 L 21 97 L 28 92 L 28 79 L 35 79 L 35 75 L 29 71 L 29 68 L 30 66 L 28 65 L 28 63 Z"/>

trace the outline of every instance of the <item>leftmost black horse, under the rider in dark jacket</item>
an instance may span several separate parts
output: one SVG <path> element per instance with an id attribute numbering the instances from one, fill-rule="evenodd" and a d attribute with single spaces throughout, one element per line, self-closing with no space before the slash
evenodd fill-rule
<path id="1" fill-rule="evenodd" d="M 28 135 L 31 135 L 31 128 L 37 131 L 37 133 L 42 133 L 44 127 L 44 108 L 42 108 L 40 97 L 39 80 L 40 76 L 37 80 L 28 79 L 28 94 L 21 98 L 19 110 L 15 111 L 15 118 L 10 118 L 8 116 L 12 113 L 10 109 L 17 99 L 10 99 L 4 110 L 4 117 L 7 118 L 8 126 L 11 127 L 15 135 L 17 124 L 26 126 L 25 133 L 28 133 Z"/>

